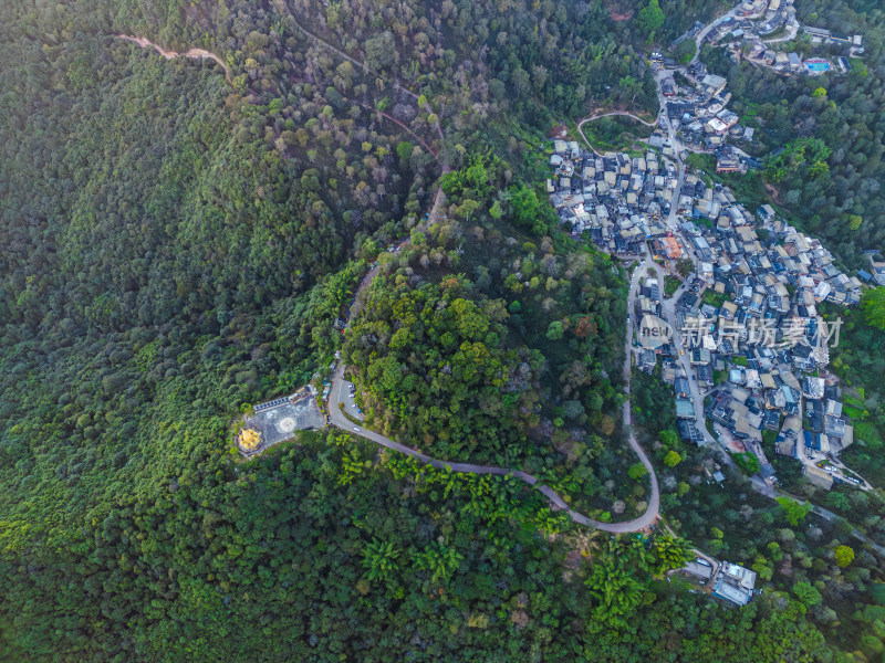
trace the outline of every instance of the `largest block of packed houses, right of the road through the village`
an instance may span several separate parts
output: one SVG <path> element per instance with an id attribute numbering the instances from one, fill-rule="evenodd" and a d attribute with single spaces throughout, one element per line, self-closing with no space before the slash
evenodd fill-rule
<path id="1" fill-rule="evenodd" d="M 853 431 L 837 388 L 810 375 L 829 361 L 826 344 L 837 341 L 837 327 L 827 327 L 818 306 L 857 304 L 861 282 L 837 270 L 820 241 L 784 223 L 770 206 L 758 210 L 759 222 L 726 191 L 714 192 L 714 206 L 715 224 L 681 225 L 697 271 L 676 304 L 697 371 L 691 379 L 709 389 L 717 381 L 714 371 L 721 376 L 707 415 L 750 446 L 770 430 L 779 431 L 779 453 L 800 460 L 815 452 L 821 459 L 835 456 L 852 443 Z M 690 420 L 690 401 L 679 407 L 688 398 L 687 379 L 667 368 L 663 377 L 673 376 L 677 417 Z M 700 435 L 693 429 L 694 423 L 681 424 L 680 433 L 697 442 Z M 837 480 L 810 463 L 806 471 L 819 475 L 819 485 L 830 487 Z"/>

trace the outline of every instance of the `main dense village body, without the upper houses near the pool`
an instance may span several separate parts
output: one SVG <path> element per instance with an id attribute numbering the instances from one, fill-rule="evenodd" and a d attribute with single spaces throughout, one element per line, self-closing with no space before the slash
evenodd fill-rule
<path id="1" fill-rule="evenodd" d="M 842 273 L 816 239 L 771 206 L 751 213 L 697 173 L 679 188 L 677 166 L 656 150 L 598 157 L 556 140 L 553 151 L 548 191 L 572 234 L 624 260 L 649 251 L 664 269 L 644 278 L 629 313 L 636 325 L 647 315 L 668 317 L 681 341 L 648 349 L 637 340 L 635 352 L 642 370 L 660 365 L 673 386 L 683 439 L 705 445 L 712 430 L 729 452 L 753 453 L 759 476 L 774 485 L 762 450 L 772 431 L 777 452 L 802 462 L 816 485 L 866 487 L 837 460 L 853 428 L 837 380 L 825 371 L 826 343 L 837 343 L 839 328 L 818 311 L 823 302 L 857 304 L 858 277 Z"/>

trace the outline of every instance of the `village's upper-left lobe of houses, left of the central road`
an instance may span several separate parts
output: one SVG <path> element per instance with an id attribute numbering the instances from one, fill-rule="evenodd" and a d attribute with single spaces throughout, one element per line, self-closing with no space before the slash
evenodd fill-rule
<path id="1" fill-rule="evenodd" d="M 675 166 L 656 151 L 601 157 L 577 143 L 555 140 L 550 165 L 550 201 L 574 234 L 587 231 L 604 250 L 631 255 L 646 239 L 666 234 L 662 219 L 674 204 L 678 180 Z"/>

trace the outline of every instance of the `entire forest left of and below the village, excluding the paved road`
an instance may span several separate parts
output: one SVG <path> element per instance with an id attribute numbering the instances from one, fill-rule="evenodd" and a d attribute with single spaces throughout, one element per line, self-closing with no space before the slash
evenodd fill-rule
<path id="1" fill-rule="evenodd" d="M 657 7 L 0 3 L 0 660 L 881 659 L 871 554 L 737 470 L 728 501 L 702 483 L 650 379 L 635 407 L 677 533 L 771 569 L 742 610 L 667 575 L 681 539 L 579 528 L 513 478 L 334 431 L 232 453 L 243 409 L 343 349 L 379 430 L 642 511 L 623 274 L 535 187 L 552 122 L 655 110 L 636 46 L 717 9 Z M 121 33 L 209 50 L 230 82 Z M 416 230 L 437 181 L 444 219 Z"/>

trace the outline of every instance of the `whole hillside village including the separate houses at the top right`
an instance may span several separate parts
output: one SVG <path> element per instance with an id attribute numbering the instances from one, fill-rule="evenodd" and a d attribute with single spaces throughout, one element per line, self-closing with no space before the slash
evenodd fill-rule
<path id="1" fill-rule="evenodd" d="M 862 35 L 800 25 L 792 0 L 747 0 L 707 27 L 696 23 L 671 50 L 693 39 L 725 45 L 732 60 L 747 57 L 781 75 L 818 75 L 834 72 L 834 65 L 850 70 L 844 56 L 803 62 L 781 52 L 778 44 L 800 30 L 831 51 L 863 53 Z M 751 478 L 768 494 L 777 476 L 763 441 L 772 439 L 768 449 L 802 463 L 815 485 L 868 490 L 839 461 L 854 442 L 854 428 L 839 380 L 825 370 L 827 347 L 839 343 L 839 320 L 825 320 L 818 308 L 824 302 L 856 305 L 862 281 L 878 282 L 883 265 L 871 257 L 872 274 L 847 276 L 820 241 L 770 204 L 747 210 L 728 188 L 689 172 L 689 152 L 715 155 L 717 173 L 760 168 L 759 159 L 730 144 L 749 144 L 754 129 L 741 126 L 728 108 L 727 80 L 708 72 L 697 54 L 678 66 L 652 53 L 650 64 L 662 113 L 646 148 L 601 155 L 554 140 L 551 203 L 574 236 L 626 264 L 643 256 L 655 261 L 629 311 L 635 365 L 659 371 L 673 386 L 684 440 L 752 454 L 759 470 Z M 650 346 L 641 336 L 648 319 L 668 328 Z M 710 476 L 723 481 L 718 470 L 714 464 Z"/>

